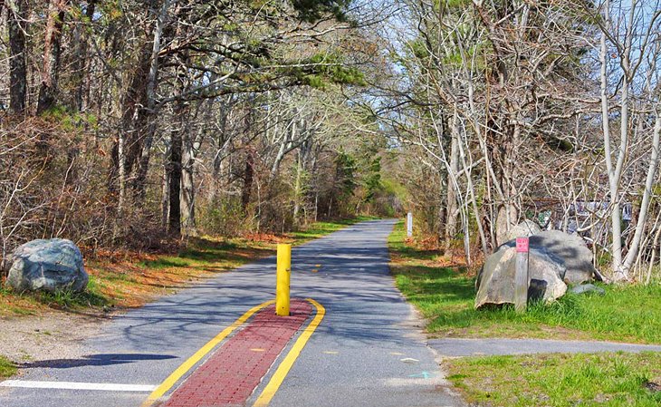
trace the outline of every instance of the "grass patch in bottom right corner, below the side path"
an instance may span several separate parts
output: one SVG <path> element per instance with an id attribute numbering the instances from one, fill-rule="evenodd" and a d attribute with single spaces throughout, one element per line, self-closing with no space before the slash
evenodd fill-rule
<path id="1" fill-rule="evenodd" d="M 538 354 L 446 361 L 478 406 L 661 405 L 661 354 Z"/>

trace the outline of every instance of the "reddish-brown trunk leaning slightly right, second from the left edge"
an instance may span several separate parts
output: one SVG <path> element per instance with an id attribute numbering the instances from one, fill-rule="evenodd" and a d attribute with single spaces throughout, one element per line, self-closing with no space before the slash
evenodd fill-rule
<path id="1" fill-rule="evenodd" d="M 53 107 L 57 101 L 57 81 L 62 56 L 62 29 L 68 0 L 51 0 L 43 40 L 42 84 L 39 88 L 37 114 Z"/>

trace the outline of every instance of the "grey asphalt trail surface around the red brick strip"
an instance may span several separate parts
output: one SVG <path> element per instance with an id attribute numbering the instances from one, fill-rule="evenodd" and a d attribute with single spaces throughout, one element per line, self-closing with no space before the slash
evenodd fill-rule
<path id="1" fill-rule="evenodd" d="M 391 220 L 364 222 L 294 247 L 292 298 L 317 301 L 325 315 L 271 406 L 463 405 L 446 386 L 412 307 L 389 275 L 386 241 L 393 225 Z M 115 318 L 85 344 L 89 355 L 34 363 L 19 378 L 28 387 L 0 388 L 0 405 L 140 406 L 210 339 L 255 305 L 273 299 L 274 265 L 273 257 L 265 258 Z M 294 342 L 277 356 L 244 405 L 257 401 Z M 53 388 L 62 383 L 72 388 Z"/>

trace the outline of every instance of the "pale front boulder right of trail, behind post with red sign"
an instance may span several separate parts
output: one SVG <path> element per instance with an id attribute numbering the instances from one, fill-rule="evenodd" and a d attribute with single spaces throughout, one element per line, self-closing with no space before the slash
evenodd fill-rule
<path id="1" fill-rule="evenodd" d="M 475 284 L 475 308 L 514 303 L 515 265 L 514 241 L 505 243 L 486 258 Z M 564 296 L 567 292 L 567 285 L 562 281 L 565 271 L 560 258 L 551 253 L 531 250 L 528 257 L 528 272 L 531 276 L 528 297 L 551 302 Z"/>

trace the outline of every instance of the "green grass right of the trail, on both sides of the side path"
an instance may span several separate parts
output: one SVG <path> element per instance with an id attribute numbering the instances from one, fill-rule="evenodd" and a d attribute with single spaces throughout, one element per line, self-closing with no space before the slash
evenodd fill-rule
<path id="1" fill-rule="evenodd" d="M 605 296 L 566 295 L 551 305 L 474 309 L 474 272 L 441 250 L 388 238 L 391 270 L 432 336 L 514 337 L 661 343 L 661 286 L 603 286 Z M 459 257 L 460 259 L 461 257 Z M 661 354 L 475 356 L 443 362 L 448 379 L 475 406 L 657 406 Z"/>

